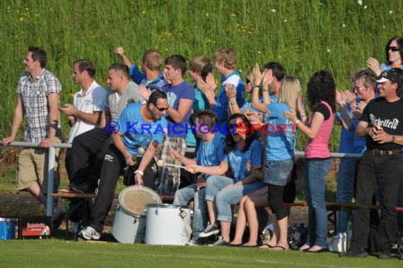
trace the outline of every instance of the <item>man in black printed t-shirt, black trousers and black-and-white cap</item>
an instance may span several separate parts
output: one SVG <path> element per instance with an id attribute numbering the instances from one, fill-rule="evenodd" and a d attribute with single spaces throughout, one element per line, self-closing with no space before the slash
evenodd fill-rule
<path id="1" fill-rule="evenodd" d="M 395 242 L 397 189 L 403 172 L 403 71 L 393 68 L 376 81 L 380 97 L 368 103 L 356 128 L 357 136 L 366 136 L 367 150 L 358 166 L 351 249 L 340 257 L 368 256 L 370 206 L 377 185 L 381 214 L 376 243 L 380 259 L 390 259 L 390 245 Z"/>

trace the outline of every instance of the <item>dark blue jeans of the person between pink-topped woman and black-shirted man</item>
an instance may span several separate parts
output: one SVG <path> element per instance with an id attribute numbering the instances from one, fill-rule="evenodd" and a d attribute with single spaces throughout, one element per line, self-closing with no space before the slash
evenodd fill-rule
<path id="1" fill-rule="evenodd" d="M 359 159 L 343 158 L 337 172 L 337 202 L 351 203 L 354 195 L 354 180 Z M 350 211 L 341 209 L 337 212 L 337 233 L 344 233 L 350 218 Z"/>

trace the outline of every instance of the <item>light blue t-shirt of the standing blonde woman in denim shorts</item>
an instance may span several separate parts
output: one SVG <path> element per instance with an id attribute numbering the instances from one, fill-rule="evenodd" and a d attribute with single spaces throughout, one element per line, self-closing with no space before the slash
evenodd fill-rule
<path id="1" fill-rule="evenodd" d="M 297 126 L 284 117 L 284 110 L 291 109 L 284 102 L 267 104 L 269 121 L 267 121 L 266 159 L 281 161 L 294 157 L 296 148 Z"/>

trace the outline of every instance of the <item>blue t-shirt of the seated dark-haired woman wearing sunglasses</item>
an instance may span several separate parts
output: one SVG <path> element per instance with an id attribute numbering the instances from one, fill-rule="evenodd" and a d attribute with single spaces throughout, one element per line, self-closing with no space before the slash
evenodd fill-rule
<path id="1" fill-rule="evenodd" d="M 242 181 L 243 178 L 249 175 L 246 170 L 247 162 L 251 162 L 254 169 L 262 167 L 262 152 L 262 143 L 259 140 L 253 140 L 246 152 L 243 152 L 243 148 L 236 147 L 223 157 L 222 161 L 231 166 L 234 183 Z"/>

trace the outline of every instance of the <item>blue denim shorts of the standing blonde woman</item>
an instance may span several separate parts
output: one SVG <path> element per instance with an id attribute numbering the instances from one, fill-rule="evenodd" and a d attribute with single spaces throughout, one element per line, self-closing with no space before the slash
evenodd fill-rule
<path id="1" fill-rule="evenodd" d="M 293 170 L 293 159 L 271 161 L 264 166 L 264 182 L 272 185 L 285 186 L 288 176 Z"/>

